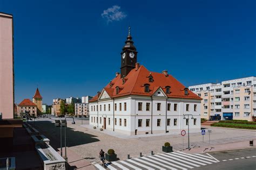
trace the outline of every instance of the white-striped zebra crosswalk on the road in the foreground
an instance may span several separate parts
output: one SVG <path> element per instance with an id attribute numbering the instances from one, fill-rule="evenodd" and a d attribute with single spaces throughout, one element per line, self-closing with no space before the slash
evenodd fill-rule
<path id="1" fill-rule="evenodd" d="M 111 170 L 144 170 L 144 169 L 192 169 L 195 167 L 214 164 L 219 160 L 212 157 L 210 154 L 190 154 L 184 152 L 171 152 L 164 154 L 149 155 L 140 158 L 127 160 L 113 161 L 107 164 L 107 169 Z M 94 164 L 96 169 L 105 169 L 102 165 Z"/>

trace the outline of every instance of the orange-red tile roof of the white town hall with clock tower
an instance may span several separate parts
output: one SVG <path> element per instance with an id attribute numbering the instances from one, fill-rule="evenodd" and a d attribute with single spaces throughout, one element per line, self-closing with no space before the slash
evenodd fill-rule
<path id="1" fill-rule="evenodd" d="M 149 76 L 153 77 L 153 82 L 149 81 Z M 150 84 L 150 92 L 144 91 L 144 84 Z M 156 90 L 161 87 L 165 91 L 165 87 L 170 86 L 170 94 L 166 94 L 170 98 L 190 98 L 201 100 L 201 98 L 188 89 L 188 95 L 185 95 L 184 89 L 186 88 L 172 75 L 165 76 L 163 73 L 150 72 L 143 65 L 138 69 L 134 68 L 125 77 L 125 83 L 120 77 L 120 74 L 105 86 L 107 94 L 111 98 L 125 96 L 125 95 L 142 95 L 152 96 Z M 116 94 L 115 88 L 119 87 L 119 93 Z M 97 101 L 98 95 L 94 96 L 90 102 Z"/>

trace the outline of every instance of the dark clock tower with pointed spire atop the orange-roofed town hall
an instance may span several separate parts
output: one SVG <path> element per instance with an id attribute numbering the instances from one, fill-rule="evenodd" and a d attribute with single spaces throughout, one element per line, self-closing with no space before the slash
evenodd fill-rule
<path id="1" fill-rule="evenodd" d="M 121 53 L 121 78 L 129 74 L 129 72 L 135 68 L 135 63 L 137 62 L 138 52 L 136 51 L 136 47 L 133 45 L 130 30 L 131 28 L 129 27 L 129 33 Z"/>

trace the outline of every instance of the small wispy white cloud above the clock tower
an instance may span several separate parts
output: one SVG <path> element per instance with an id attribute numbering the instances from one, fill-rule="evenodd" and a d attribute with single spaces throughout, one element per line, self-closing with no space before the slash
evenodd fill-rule
<path id="1" fill-rule="evenodd" d="M 122 20 L 127 15 L 120 11 L 120 6 L 113 5 L 111 8 L 108 8 L 103 11 L 102 18 L 106 19 L 107 23 L 116 21 L 116 20 Z"/>

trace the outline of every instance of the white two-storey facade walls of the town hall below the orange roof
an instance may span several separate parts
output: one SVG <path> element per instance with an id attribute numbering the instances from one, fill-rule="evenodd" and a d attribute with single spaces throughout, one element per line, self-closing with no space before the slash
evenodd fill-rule
<path id="1" fill-rule="evenodd" d="M 194 119 L 188 119 L 190 132 L 200 131 L 200 100 L 167 98 L 160 88 L 152 97 L 129 95 L 110 98 L 105 90 L 101 94 L 98 101 L 89 105 L 90 125 L 98 128 L 128 135 L 177 134 L 188 128 L 183 114 L 192 114 Z"/>

